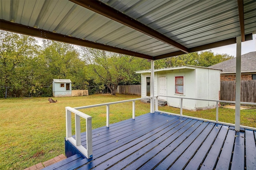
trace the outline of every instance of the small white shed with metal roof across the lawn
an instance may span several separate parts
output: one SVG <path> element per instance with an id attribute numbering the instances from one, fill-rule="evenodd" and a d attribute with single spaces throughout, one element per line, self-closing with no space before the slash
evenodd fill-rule
<path id="1" fill-rule="evenodd" d="M 71 97 L 71 80 L 70 79 L 53 79 L 52 96 L 53 97 Z"/>

